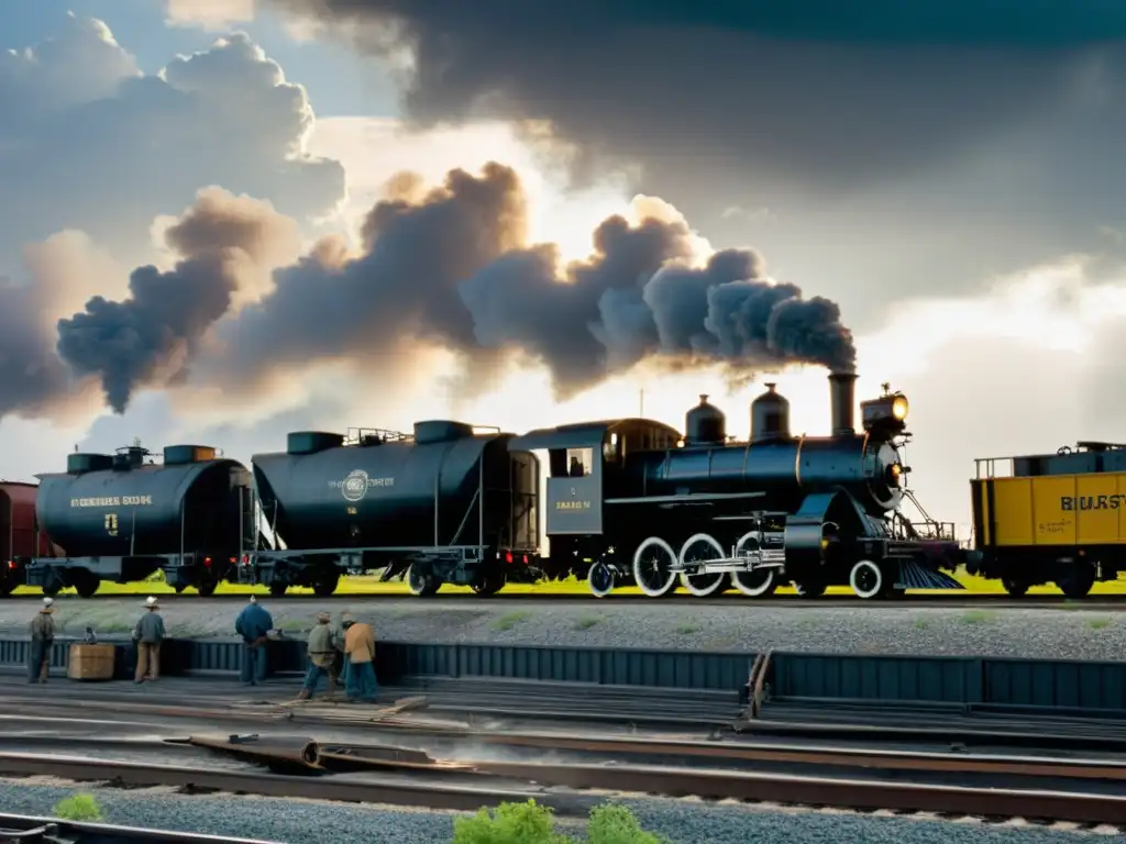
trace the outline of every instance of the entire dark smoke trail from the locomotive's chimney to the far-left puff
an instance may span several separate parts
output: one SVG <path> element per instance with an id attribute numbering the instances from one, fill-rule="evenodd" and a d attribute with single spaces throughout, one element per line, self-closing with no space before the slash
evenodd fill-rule
<path id="1" fill-rule="evenodd" d="M 262 267 L 292 232 L 250 200 L 205 196 L 168 231 L 185 255 L 176 269 L 141 268 L 131 298 L 96 297 L 61 321 L 60 352 L 101 378 L 118 412 L 137 387 L 182 383 L 208 340 L 198 371 L 239 389 L 319 360 L 360 362 L 373 381 L 410 376 L 420 341 L 458 353 L 465 394 L 488 389 L 511 352 L 546 366 L 560 397 L 642 360 L 724 362 L 738 378 L 855 365 L 837 305 L 775 284 L 751 251 L 692 266 L 692 232 L 652 201 L 637 206 L 636 225 L 602 222 L 591 257 L 560 268 L 556 246 L 527 244 L 510 168 L 455 170 L 430 191 L 400 176 L 388 189 L 363 225 L 361 253 L 322 241 L 241 309 L 236 298 L 261 291 Z"/>

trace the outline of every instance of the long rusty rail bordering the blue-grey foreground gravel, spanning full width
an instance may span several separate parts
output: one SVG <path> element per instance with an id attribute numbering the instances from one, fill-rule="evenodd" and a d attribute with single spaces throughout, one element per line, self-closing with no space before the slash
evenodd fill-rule
<path id="1" fill-rule="evenodd" d="M 849 780 L 790 774 L 745 773 L 643 765 L 529 765 L 481 763 L 482 773 L 530 780 L 543 788 L 597 789 L 617 794 L 653 793 L 703 799 L 739 799 L 834 806 L 873 811 L 930 811 L 985 817 L 1120 824 L 1126 798 L 1047 790 L 973 789 L 887 780 Z M 472 788 L 403 780 L 369 781 L 333 776 L 278 776 L 231 771 L 172 767 L 77 757 L 0 754 L 7 775 L 51 775 L 71 780 L 108 780 L 126 785 L 177 785 L 269 797 L 382 802 L 448 810 L 475 810 L 503 800 L 535 797 L 557 811 L 583 812 L 583 796 L 558 791 L 533 792 L 502 788 Z M 488 782 L 488 781 L 484 781 Z M 597 801 L 595 799 L 593 801 Z"/>

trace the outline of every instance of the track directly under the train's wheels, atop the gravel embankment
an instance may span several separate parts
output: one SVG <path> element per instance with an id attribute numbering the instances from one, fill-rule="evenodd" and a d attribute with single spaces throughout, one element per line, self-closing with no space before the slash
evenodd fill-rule
<path id="1" fill-rule="evenodd" d="M 965 593 L 965 594 L 929 594 L 927 592 L 911 592 L 902 598 L 894 601 L 863 601 L 855 595 L 825 595 L 822 598 L 810 599 L 802 598 L 797 594 L 784 594 L 784 595 L 771 595 L 770 598 L 748 598 L 740 594 L 724 594 L 716 595 L 713 598 L 696 598 L 688 594 L 687 592 L 677 592 L 672 595 L 668 595 L 660 601 L 654 601 L 643 594 L 614 594 L 608 595 L 602 599 L 595 599 L 592 595 L 583 593 L 552 593 L 552 592 L 515 592 L 515 593 L 500 593 L 491 598 L 482 598 L 468 592 L 452 592 L 452 593 L 439 593 L 431 598 L 415 598 L 414 595 L 404 593 L 388 594 L 386 592 L 347 592 L 337 593 L 329 595 L 327 598 L 321 598 L 314 594 L 286 594 L 283 598 L 271 598 L 265 590 L 260 591 L 261 596 L 269 602 L 301 602 L 310 601 L 316 603 L 323 603 L 324 601 L 411 601 L 420 602 L 419 607 L 439 607 L 444 604 L 476 604 L 481 607 L 488 607 L 497 603 L 519 603 L 528 602 L 531 604 L 561 604 L 561 605 L 587 605 L 597 601 L 596 605 L 611 603 L 611 604 L 631 604 L 636 603 L 645 607 L 778 607 L 786 609 L 794 608 L 806 608 L 806 607 L 856 607 L 870 610 L 886 610 L 894 609 L 897 607 L 919 607 L 919 605 L 935 605 L 935 607 L 990 607 L 990 608 L 1013 608 L 1013 609 L 1082 609 L 1082 610 L 1121 610 L 1126 608 L 1126 593 L 1123 594 L 1108 594 L 1108 595 L 1093 595 L 1082 600 L 1073 600 L 1064 598 L 1063 595 L 1026 595 L 1024 598 L 1012 598 L 1007 594 L 994 594 L 994 593 Z M 223 603 L 230 602 L 244 602 L 248 598 L 247 594 L 231 594 L 221 593 L 211 595 L 208 598 L 202 598 L 195 593 L 155 593 L 160 598 L 162 603 L 176 603 L 176 602 L 193 602 L 193 601 L 218 601 Z M 96 594 L 92 598 L 79 598 L 74 594 L 62 593 L 55 600 L 56 601 L 96 601 L 96 600 L 123 600 L 123 601 L 136 601 L 140 598 L 140 593 L 106 593 Z M 41 601 L 42 595 L 38 593 L 20 593 L 15 595 L 9 595 L 7 599 L 0 600 L 15 600 L 15 601 Z"/>

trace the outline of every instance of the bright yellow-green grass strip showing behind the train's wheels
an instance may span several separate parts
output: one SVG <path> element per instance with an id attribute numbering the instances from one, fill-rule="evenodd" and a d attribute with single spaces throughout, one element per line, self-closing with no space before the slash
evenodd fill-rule
<path id="1" fill-rule="evenodd" d="M 1004 587 L 1001 585 L 1000 581 L 988 581 L 983 577 L 972 577 L 964 572 L 958 572 L 955 578 L 960 582 L 966 591 L 962 592 L 959 590 L 928 590 L 927 594 L 931 595 L 959 595 L 966 594 L 981 594 L 981 595 L 1003 595 L 1006 594 Z M 74 590 L 66 589 L 63 590 L 62 594 L 72 594 Z M 473 592 L 468 586 L 453 586 L 450 584 L 445 584 L 441 587 L 441 593 L 456 594 L 456 593 L 470 594 Z M 107 583 L 102 582 L 101 586 L 98 589 L 98 594 L 101 595 L 168 595 L 172 594 L 173 590 L 167 583 L 160 580 L 145 581 L 141 583 Z M 185 594 L 195 594 L 196 590 L 189 589 Z M 218 589 L 215 590 L 216 594 L 220 595 L 268 595 L 269 591 L 265 586 L 244 586 L 241 584 L 223 583 L 220 584 Z M 42 594 L 41 590 L 35 586 L 20 586 L 16 590 L 16 594 L 27 594 L 37 595 Z M 296 595 L 311 595 L 313 590 L 303 587 L 293 587 L 287 594 Z M 340 583 L 337 586 L 337 594 L 342 595 L 409 595 L 410 591 L 406 589 L 406 584 L 399 581 L 390 581 L 382 583 L 378 575 L 360 575 L 360 576 L 346 576 L 340 578 Z M 565 581 L 548 581 L 546 583 L 528 584 L 528 583 L 510 583 L 504 586 L 503 594 L 506 595 L 527 595 L 527 594 L 543 594 L 543 595 L 571 595 L 571 594 L 589 594 L 589 589 L 587 586 L 586 580 L 575 580 L 574 577 L 569 577 Z M 622 595 L 641 595 L 642 592 L 636 586 L 626 586 L 622 589 L 616 589 L 614 594 Z M 794 594 L 793 586 L 785 586 L 778 590 L 780 595 Z M 852 590 L 848 586 L 830 586 L 825 590 L 826 595 L 832 596 L 848 596 L 852 594 Z M 1053 584 L 1046 584 L 1042 586 L 1033 586 L 1028 590 L 1029 596 L 1036 595 L 1060 595 L 1060 590 Z M 1099 595 L 1121 595 L 1126 594 L 1126 580 L 1123 581 L 1108 581 L 1106 583 L 1096 583 L 1091 589 L 1091 596 L 1097 598 Z M 1084 608 L 1085 601 L 1065 601 L 1060 604 L 1063 609 L 1074 609 L 1080 610 Z"/>

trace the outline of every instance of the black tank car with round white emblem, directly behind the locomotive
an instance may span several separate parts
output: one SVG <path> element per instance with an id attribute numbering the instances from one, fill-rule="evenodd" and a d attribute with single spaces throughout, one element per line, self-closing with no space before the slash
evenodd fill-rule
<path id="1" fill-rule="evenodd" d="M 256 554 L 257 578 L 275 594 L 331 593 L 341 569 L 406 571 L 417 594 L 531 580 L 538 461 L 509 454 L 510 438 L 445 420 L 418 422 L 413 436 L 291 433 L 285 452 L 252 459 L 262 517 L 285 545 Z"/>

